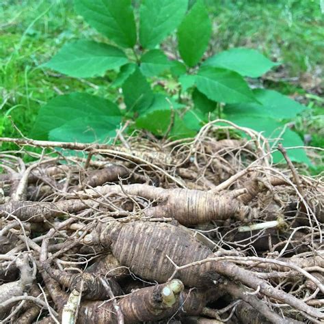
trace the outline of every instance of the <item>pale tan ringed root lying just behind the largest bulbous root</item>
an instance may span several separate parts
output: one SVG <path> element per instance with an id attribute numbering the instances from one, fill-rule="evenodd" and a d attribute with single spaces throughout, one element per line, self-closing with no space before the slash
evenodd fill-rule
<path id="1" fill-rule="evenodd" d="M 141 211 L 146 217 L 173 217 L 180 224 L 204 224 L 211 220 L 226 220 L 230 217 L 241 221 L 251 221 L 256 215 L 244 206 L 237 197 L 245 189 L 229 193 L 215 194 L 208 191 L 189 189 L 162 189 L 148 185 L 104 186 L 79 191 L 77 196 L 84 199 L 101 195 L 135 195 L 157 202 L 157 206 Z M 71 196 L 75 197 L 75 196 Z"/>

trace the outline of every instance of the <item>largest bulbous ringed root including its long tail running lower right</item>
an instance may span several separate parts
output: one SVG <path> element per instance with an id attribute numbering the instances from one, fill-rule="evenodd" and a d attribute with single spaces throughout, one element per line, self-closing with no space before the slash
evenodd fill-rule
<path id="1" fill-rule="evenodd" d="M 186 286 L 217 284 L 219 275 L 241 281 L 250 288 L 278 301 L 288 303 L 311 316 L 324 319 L 324 314 L 308 306 L 293 295 L 288 295 L 257 277 L 252 271 L 238 267 L 232 262 L 216 260 L 211 249 L 202 245 L 180 226 L 144 221 L 121 223 L 108 219 L 98 224 L 84 243 L 101 244 L 110 248 L 122 265 L 148 280 L 165 282 L 174 275 L 177 267 L 192 264 L 176 271 L 176 278 Z M 201 262 L 204 260 L 204 262 Z"/>

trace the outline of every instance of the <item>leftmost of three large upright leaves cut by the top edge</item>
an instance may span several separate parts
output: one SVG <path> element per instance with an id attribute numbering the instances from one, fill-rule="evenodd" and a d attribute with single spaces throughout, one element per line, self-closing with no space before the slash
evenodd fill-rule
<path id="1" fill-rule="evenodd" d="M 131 0 L 75 0 L 75 9 L 85 21 L 124 48 L 136 43 Z"/>

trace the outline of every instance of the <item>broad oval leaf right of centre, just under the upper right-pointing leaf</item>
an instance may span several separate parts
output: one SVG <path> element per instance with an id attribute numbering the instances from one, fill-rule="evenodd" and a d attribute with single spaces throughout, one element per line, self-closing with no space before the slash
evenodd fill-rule
<path id="1" fill-rule="evenodd" d="M 253 92 L 237 72 L 206 66 L 195 76 L 198 90 L 209 99 L 221 103 L 255 102 Z"/>

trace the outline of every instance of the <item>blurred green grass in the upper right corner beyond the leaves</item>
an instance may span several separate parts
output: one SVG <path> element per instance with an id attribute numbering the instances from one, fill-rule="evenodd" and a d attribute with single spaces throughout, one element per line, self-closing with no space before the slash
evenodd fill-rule
<path id="1" fill-rule="evenodd" d="M 324 18 L 318 0 L 206 0 L 213 51 L 249 46 L 283 62 L 292 75 L 323 68 Z"/>

